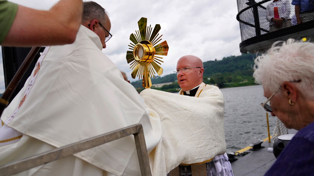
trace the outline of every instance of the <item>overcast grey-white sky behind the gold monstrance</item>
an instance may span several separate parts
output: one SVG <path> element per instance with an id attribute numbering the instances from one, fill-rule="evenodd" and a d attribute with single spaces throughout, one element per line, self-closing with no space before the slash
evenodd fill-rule
<path id="1" fill-rule="evenodd" d="M 11 0 L 21 5 L 47 10 L 57 0 Z M 195 55 L 203 60 L 221 60 L 230 55 L 240 55 L 239 22 L 236 20 L 236 0 L 95 0 L 109 13 L 110 33 L 106 54 L 131 81 L 132 70 L 126 61 L 130 34 L 138 30 L 138 20 L 147 18 L 147 24 L 160 24 L 162 41 L 167 40 L 168 55 L 161 67 L 163 75 L 173 73 L 177 60 L 184 55 Z M 0 56 L 2 62 L 2 55 Z M 161 75 L 161 76 L 163 76 Z M 136 79 L 138 80 L 138 78 Z M 154 84 L 154 80 L 152 80 Z M 3 66 L 0 68 L 0 92 L 4 91 Z"/>

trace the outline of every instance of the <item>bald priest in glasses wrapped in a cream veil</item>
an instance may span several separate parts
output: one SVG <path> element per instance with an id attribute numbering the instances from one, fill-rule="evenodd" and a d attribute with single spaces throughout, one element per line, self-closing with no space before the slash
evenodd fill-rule
<path id="1" fill-rule="evenodd" d="M 196 56 L 181 57 L 175 72 L 179 95 L 152 89 L 140 93 L 162 126 L 161 140 L 149 153 L 153 175 L 232 176 L 221 91 L 203 83 L 203 62 Z"/>

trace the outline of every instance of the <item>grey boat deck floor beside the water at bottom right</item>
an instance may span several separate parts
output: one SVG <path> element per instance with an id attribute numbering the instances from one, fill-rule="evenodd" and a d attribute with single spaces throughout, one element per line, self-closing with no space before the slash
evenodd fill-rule
<path id="1" fill-rule="evenodd" d="M 288 132 L 289 134 L 295 134 L 297 131 L 294 129 L 289 129 Z M 234 176 L 263 176 L 273 165 L 273 163 L 276 161 L 276 158 L 273 153 L 267 151 L 267 148 L 273 147 L 273 142 L 269 143 L 268 138 L 266 139 L 267 140 L 264 140 L 261 145 L 264 148 L 261 148 L 257 151 L 246 150 L 246 152 L 250 153 L 244 156 L 235 156 L 235 158 L 238 160 L 231 163 Z M 243 152 L 243 150 L 241 152 Z"/>

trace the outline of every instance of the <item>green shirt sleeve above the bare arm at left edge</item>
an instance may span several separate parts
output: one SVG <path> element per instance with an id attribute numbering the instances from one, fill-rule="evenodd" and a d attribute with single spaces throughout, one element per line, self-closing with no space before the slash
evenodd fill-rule
<path id="1" fill-rule="evenodd" d="M 0 0 L 0 45 L 7 36 L 17 11 L 18 4 Z"/>

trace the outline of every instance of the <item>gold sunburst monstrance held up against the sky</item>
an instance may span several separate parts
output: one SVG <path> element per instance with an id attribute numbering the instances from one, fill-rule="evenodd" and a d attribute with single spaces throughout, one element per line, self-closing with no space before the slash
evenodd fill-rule
<path id="1" fill-rule="evenodd" d="M 154 30 L 151 25 L 146 26 L 147 18 L 141 18 L 138 21 L 139 30 L 135 31 L 135 34 L 130 35 L 130 40 L 133 42 L 128 45 L 132 51 L 127 51 L 127 63 L 131 65 L 132 78 L 138 76 L 138 79 L 143 78 L 143 87 L 149 88 L 152 86 L 151 76 L 155 77 L 154 74 L 161 75 L 163 69 L 159 66 L 160 62 L 164 62 L 160 59 L 162 57 L 156 55 L 168 54 L 167 41 L 163 41 L 160 44 L 159 30 L 160 25 L 156 24 Z M 158 33 L 158 34 L 157 34 Z M 158 37 L 159 36 L 159 37 Z M 158 38 L 157 38 L 158 37 Z M 156 45 L 157 44 L 157 45 Z M 159 64 L 159 65 L 158 65 Z M 156 71 L 156 73 L 155 73 Z"/>

